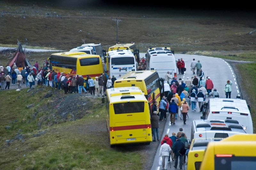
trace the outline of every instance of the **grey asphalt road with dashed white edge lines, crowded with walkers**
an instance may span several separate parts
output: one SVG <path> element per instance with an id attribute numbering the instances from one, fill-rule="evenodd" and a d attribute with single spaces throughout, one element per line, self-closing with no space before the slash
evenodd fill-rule
<path id="1" fill-rule="evenodd" d="M 232 92 L 231 92 L 231 98 L 236 98 L 236 96 L 240 96 L 240 90 L 238 87 L 238 84 L 236 82 L 236 75 L 234 73 L 234 70 L 232 67 L 225 62 L 223 59 L 215 58 L 215 57 L 208 57 L 208 56 L 200 56 L 200 55 L 182 55 L 182 54 L 176 54 L 175 59 L 183 58 L 186 64 L 187 71 L 185 72 L 185 75 L 179 75 L 178 78 L 182 78 L 184 80 L 187 79 L 187 77 L 191 78 L 193 75 L 192 71 L 190 70 L 190 64 L 193 58 L 197 60 L 200 60 L 200 63 L 202 64 L 202 70 L 204 71 L 205 78 L 206 76 L 209 76 L 212 79 L 212 82 L 214 84 L 214 88 L 217 88 L 217 91 L 220 93 L 220 98 L 226 98 L 224 87 L 227 83 L 227 80 L 231 80 L 233 82 L 232 85 Z M 209 97 L 206 98 L 206 100 L 209 100 Z M 161 138 L 161 140 L 164 138 L 165 134 L 168 134 L 169 137 L 172 136 L 172 132 L 179 132 L 180 128 L 183 128 L 183 131 L 186 133 L 188 139 L 190 140 L 191 136 L 191 126 L 193 120 L 200 119 L 200 116 L 202 116 L 202 113 L 199 112 L 199 107 L 197 103 L 196 112 L 191 110 L 188 111 L 189 118 L 187 119 L 186 125 L 183 124 L 183 120 L 180 120 L 180 117 L 175 121 L 175 125 L 170 124 L 170 117 L 168 114 L 167 121 L 165 123 L 164 127 L 164 133 Z M 156 155 L 154 158 L 153 165 L 151 167 L 151 170 L 159 170 L 162 169 L 162 166 L 158 165 L 158 158 L 159 158 L 159 150 L 160 150 L 160 142 L 158 149 L 156 151 Z M 187 160 L 186 160 L 187 162 Z M 171 167 L 174 169 L 174 161 L 171 161 Z M 179 168 L 179 164 L 178 164 Z M 170 169 L 170 164 L 168 165 L 168 169 Z M 184 169 L 184 165 L 183 165 Z"/>

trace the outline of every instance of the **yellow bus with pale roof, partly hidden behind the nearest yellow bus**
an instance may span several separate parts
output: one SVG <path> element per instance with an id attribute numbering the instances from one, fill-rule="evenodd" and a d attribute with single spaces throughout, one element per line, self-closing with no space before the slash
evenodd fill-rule
<path id="1" fill-rule="evenodd" d="M 193 139 L 190 144 L 190 149 L 188 152 L 188 163 L 187 165 L 185 165 L 185 169 L 199 170 L 202 160 L 204 158 L 204 152 L 208 143 L 220 141 L 222 139 L 223 138 Z"/>

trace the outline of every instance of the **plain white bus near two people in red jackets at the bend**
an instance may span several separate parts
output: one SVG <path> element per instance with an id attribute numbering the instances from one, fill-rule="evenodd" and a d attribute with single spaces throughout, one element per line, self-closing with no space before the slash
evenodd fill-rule
<path id="1" fill-rule="evenodd" d="M 146 54 L 147 70 L 156 70 L 159 78 L 164 78 L 170 71 L 172 78 L 177 78 L 174 52 L 168 47 L 149 48 Z M 172 80 L 170 80 L 172 81 Z"/>

